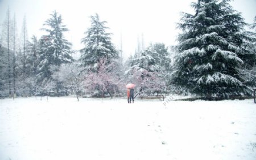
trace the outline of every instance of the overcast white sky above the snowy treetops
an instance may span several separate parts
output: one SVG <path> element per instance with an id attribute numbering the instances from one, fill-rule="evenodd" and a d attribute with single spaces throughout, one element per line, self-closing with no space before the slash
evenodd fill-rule
<path id="1" fill-rule="evenodd" d="M 43 34 L 39 29 L 43 28 L 49 14 L 56 10 L 69 29 L 66 38 L 72 42 L 73 49 L 79 50 L 83 47 L 81 38 L 90 27 L 89 16 L 97 12 L 101 20 L 108 21 L 106 26 L 110 27 L 112 41 L 118 48 L 122 34 L 123 54 L 127 58 L 134 54 L 142 33 L 144 46 L 150 42 L 175 45 L 180 12 L 193 13 L 190 7 L 192 1 L 196 0 L 0 0 L 0 23 L 3 23 L 9 6 L 11 15 L 15 12 L 18 32 L 26 15 L 28 35 L 35 34 L 39 38 Z M 253 23 L 256 0 L 234 0 L 231 4 L 235 10 L 242 12 L 246 23 Z"/>

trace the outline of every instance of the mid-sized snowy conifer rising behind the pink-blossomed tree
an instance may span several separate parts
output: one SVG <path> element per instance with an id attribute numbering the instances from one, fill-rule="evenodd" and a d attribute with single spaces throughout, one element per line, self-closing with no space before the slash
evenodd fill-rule
<path id="1" fill-rule="evenodd" d="M 110 62 L 118 58 L 118 52 L 111 42 L 111 33 L 106 32 L 109 29 L 105 26 L 107 22 L 100 21 L 98 14 L 90 18 L 91 27 L 85 32 L 86 37 L 81 40 L 85 47 L 80 50 L 80 63 L 82 67 L 97 70 L 100 59 Z"/>

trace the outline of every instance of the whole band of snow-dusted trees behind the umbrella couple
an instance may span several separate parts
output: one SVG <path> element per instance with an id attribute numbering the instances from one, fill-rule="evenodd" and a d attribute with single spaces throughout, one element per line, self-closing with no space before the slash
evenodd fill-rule
<path id="1" fill-rule="evenodd" d="M 46 34 L 28 37 L 26 17 L 20 36 L 15 16 L 6 12 L 0 37 L 0 96 L 67 95 L 123 96 L 134 83 L 141 94 L 195 94 L 211 99 L 251 96 L 255 88 L 256 16 L 246 24 L 229 0 L 192 2 L 195 14 L 183 13 L 177 46 L 138 44 L 123 63 L 122 50 L 112 43 L 107 21 L 90 16 L 80 58 L 65 39 L 68 28 L 53 11 L 41 28 Z M 250 31 L 246 31 L 250 27 Z M 171 38 L 171 37 L 170 37 Z"/>

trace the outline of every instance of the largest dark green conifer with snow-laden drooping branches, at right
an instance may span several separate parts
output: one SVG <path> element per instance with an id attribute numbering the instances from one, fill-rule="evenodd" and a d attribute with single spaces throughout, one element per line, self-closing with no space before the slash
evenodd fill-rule
<path id="1" fill-rule="evenodd" d="M 184 13 L 172 83 L 191 93 L 212 97 L 245 93 L 238 68 L 247 53 L 248 39 L 241 14 L 229 0 L 192 2 L 195 14 Z"/>

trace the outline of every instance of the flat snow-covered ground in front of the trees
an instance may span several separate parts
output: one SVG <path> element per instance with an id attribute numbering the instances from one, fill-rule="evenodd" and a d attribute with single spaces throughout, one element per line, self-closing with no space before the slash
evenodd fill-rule
<path id="1" fill-rule="evenodd" d="M 256 159 L 256 104 L 0 100 L 1 160 Z"/>

